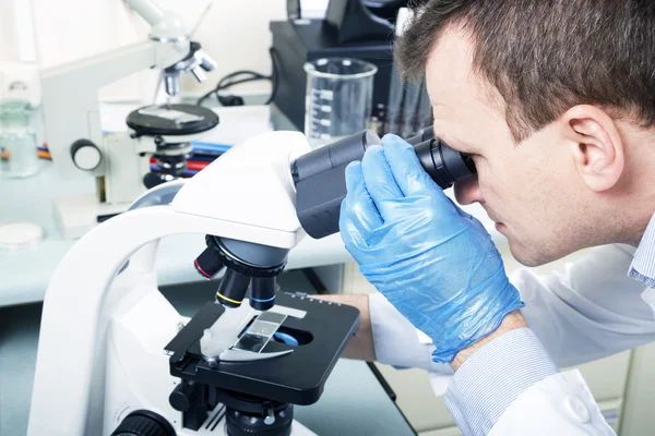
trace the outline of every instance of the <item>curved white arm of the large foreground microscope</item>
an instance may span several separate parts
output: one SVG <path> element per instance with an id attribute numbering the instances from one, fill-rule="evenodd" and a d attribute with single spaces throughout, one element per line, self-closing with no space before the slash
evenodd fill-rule
<path id="1" fill-rule="evenodd" d="M 44 300 L 28 434 L 83 435 L 80 416 L 98 419 L 88 414 L 88 397 L 92 379 L 103 376 L 94 356 L 105 346 L 104 304 L 116 300 L 111 282 L 133 253 L 170 234 L 236 235 L 247 231 L 243 227 L 154 206 L 111 218 L 78 241 L 53 272 Z M 275 230 L 267 233 L 278 239 Z M 91 253 L 102 255 L 90 259 Z M 57 416 L 56 426 L 45 416 Z"/>

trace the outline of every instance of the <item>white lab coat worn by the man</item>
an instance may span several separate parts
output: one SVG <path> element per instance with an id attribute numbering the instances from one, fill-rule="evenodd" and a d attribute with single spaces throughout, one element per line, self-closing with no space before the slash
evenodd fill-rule
<path id="1" fill-rule="evenodd" d="M 511 277 L 526 307 L 523 314 L 560 367 L 577 365 L 655 341 L 655 289 L 627 277 L 635 249 L 596 247 L 563 270 Z M 376 354 L 394 366 L 430 371 L 442 395 L 448 365 L 431 362 L 433 347 L 380 294 L 370 296 Z M 416 338 L 409 340 L 408 338 Z M 499 435 L 614 435 L 577 370 L 550 376 L 526 389 L 490 432 Z"/>

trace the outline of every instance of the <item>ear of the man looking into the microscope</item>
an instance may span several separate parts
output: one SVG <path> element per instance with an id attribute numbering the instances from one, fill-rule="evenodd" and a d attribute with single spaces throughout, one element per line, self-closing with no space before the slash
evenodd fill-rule
<path id="1" fill-rule="evenodd" d="M 595 106 L 579 105 L 560 121 L 583 182 L 596 192 L 611 189 L 624 166 L 623 142 L 615 120 Z"/>

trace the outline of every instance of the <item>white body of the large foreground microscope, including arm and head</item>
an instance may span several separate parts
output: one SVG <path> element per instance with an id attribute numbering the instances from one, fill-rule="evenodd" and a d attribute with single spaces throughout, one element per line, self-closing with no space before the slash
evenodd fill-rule
<path id="1" fill-rule="evenodd" d="M 29 436 L 109 436 L 139 409 L 166 416 L 177 435 L 223 434 L 215 414 L 198 432 L 183 428 L 168 402 L 179 379 L 163 350 L 186 319 L 157 289 L 158 239 L 198 232 L 293 249 L 305 231 L 289 165 L 309 149 L 296 132 L 251 138 L 143 197 L 182 185 L 172 203 L 121 214 L 73 245 L 45 295 Z"/>

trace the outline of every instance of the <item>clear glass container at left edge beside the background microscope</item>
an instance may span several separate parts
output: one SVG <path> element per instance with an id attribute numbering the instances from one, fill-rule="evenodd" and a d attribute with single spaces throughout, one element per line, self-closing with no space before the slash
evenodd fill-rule
<path id="1" fill-rule="evenodd" d="M 24 178 L 38 172 L 36 133 L 29 125 L 29 104 L 0 101 L 0 175 Z"/>

